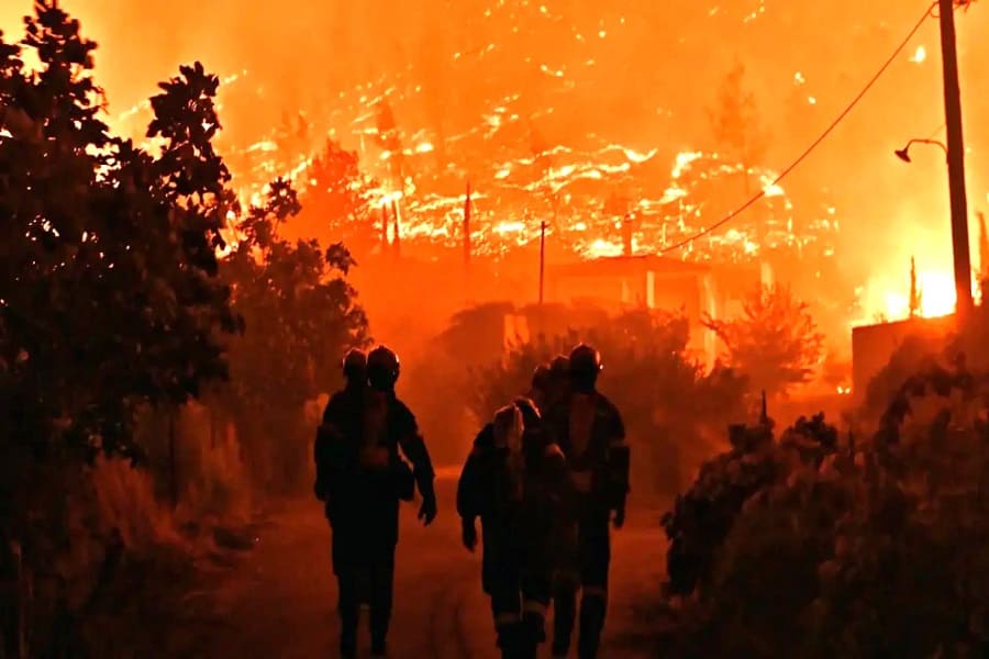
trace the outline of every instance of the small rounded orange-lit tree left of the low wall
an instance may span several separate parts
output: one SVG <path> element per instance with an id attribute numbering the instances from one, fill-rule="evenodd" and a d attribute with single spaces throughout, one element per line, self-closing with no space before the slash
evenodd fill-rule
<path id="1" fill-rule="evenodd" d="M 743 302 L 741 317 L 704 325 L 724 344 L 727 362 L 769 394 L 786 394 L 811 379 L 823 354 L 824 336 L 804 302 L 789 287 L 760 286 Z"/>

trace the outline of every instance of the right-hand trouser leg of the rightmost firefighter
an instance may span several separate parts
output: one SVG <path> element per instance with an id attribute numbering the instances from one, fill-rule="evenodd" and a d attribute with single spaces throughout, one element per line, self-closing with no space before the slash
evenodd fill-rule
<path id="1" fill-rule="evenodd" d="M 596 518 L 582 529 L 584 569 L 580 599 L 580 659 L 598 656 L 604 616 L 608 611 L 608 570 L 611 563 L 611 538 L 607 515 Z"/>

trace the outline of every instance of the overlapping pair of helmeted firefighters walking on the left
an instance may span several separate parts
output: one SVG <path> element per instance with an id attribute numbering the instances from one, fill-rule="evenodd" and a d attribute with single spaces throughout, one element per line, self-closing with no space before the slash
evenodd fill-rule
<path id="1" fill-rule="evenodd" d="M 419 518 L 436 516 L 433 467 L 412 412 L 396 396 L 398 356 L 385 346 L 344 359 L 347 387 L 326 405 L 316 438 L 316 494 L 333 529 L 338 584 L 340 654 L 356 656 L 360 578 L 367 576 L 371 652 L 384 656 L 395 582 L 399 501 L 422 495 Z M 349 364 L 349 370 L 348 370 Z M 404 459 L 403 457 L 404 456 Z M 412 468 L 405 462 L 408 459 Z"/>

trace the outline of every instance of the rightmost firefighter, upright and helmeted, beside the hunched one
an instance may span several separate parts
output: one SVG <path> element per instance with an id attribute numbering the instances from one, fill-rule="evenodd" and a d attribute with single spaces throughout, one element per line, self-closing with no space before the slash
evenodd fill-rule
<path id="1" fill-rule="evenodd" d="M 575 491 L 570 541 L 557 557 L 554 580 L 554 656 L 566 656 L 581 590 L 578 656 L 597 657 L 608 604 L 610 524 L 621 528 L 629 491 L 629 447 L 618 409 L 597 389 L 602 368 L 593 347 L 580 344 L 568 359 L 568 391 L 549 425 L 566 455 Z"/>

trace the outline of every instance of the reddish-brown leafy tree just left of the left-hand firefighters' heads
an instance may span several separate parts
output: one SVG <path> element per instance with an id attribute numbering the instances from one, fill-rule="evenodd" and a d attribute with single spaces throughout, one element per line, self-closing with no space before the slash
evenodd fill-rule
<path id="1" fill-rule="evenodd" d="M 243 238 L 221 267 L 247 330 L 231 344 L 231 381 L 219 395 L 248 466 L 273 487 L 301 482 L 310 440 L 304 406 L 341 384 L 344 350 L 370 340 L 346 280 L 356 265 L 349 252 L 279 236 L 300 209 L 288 181 L 274 181 L 265 205 L 249 209 Z"/>

